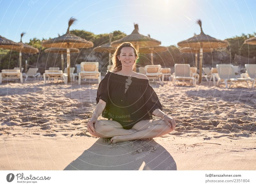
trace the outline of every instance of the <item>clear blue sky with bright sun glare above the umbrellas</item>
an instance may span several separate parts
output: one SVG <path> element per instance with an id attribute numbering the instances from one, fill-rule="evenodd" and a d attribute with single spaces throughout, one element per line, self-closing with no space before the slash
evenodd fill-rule
<path id="1" fill-rule="evenodd" d="M 62 35 L 72 16 L 77 22 L 71 30 L 95 34 L 130 34 L 138 23 L 141 34 L 163 46 L 199 34 L 198 18 L 204 33 L 222 40 L 256 32 L 255 0 L 0 0 L 0 7 L 0 35 L 16 42 L 22 32 L 23 42 Z"/>

